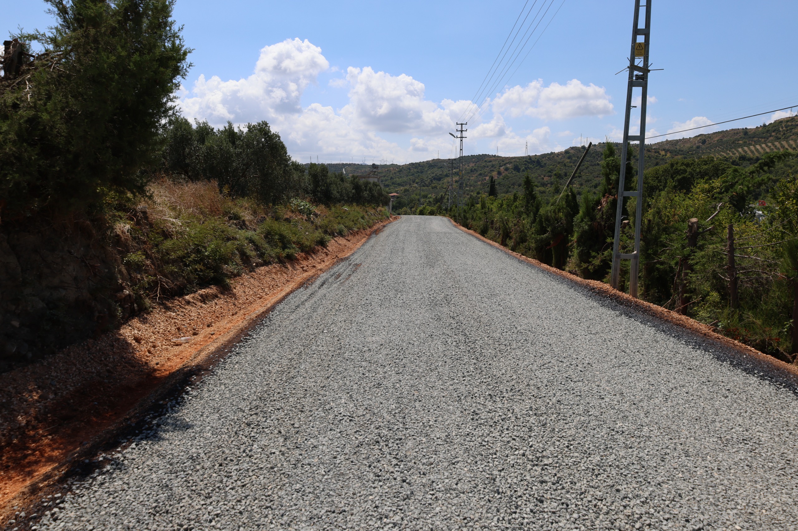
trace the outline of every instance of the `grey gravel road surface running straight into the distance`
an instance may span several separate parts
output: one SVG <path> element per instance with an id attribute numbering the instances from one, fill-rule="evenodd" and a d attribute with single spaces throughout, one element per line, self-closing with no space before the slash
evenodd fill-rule
<path id="1" fill-rule="evenodd" d="M 796 395 L 742 365 L 408 216 L 283 301 L 34 521 L 798 529 Z"/>

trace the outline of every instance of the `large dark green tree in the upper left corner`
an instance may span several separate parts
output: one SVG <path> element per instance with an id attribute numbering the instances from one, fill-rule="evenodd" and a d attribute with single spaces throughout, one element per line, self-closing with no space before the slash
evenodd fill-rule
<path id="1" fill-rule="evenodd" d="M 57 24 L 20 36 L 44 51 L 0 85 L 6 215 L 75 210 L 142 192 L 188 69 L 170 0 L 47 0 Z"/>

